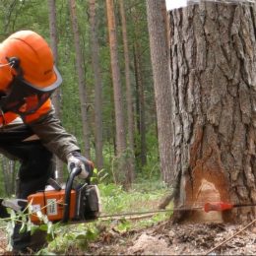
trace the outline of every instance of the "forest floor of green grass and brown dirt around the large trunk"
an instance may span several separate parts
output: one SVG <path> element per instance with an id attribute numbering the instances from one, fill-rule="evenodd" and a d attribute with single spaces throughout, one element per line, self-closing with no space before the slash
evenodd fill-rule
<path id="1" fill-rule="evenodd" d="M 113 185 L 101 187 L 102 216 L 129 213 L 132 209 L 153 211 L 165 190 L 149 184 L 147 189 L 149 193 L 145 189 L 126 193 Z M 171 210 L 172 205 L 168 207 Z M 172 212 L 160 213 L 129 221 L 102 218 L 89 224 L 59 226 L 56 238 L 37 255 L 256 255 L 256 220 L 244 228 L 246 224 L 214 222 L 219 218 L 208 213 L 208 224 L 172 224 L 171 215 Z M 90 236 L 94 236 L 91 241 Z M 0 255 L 10 255 L 6 248 L 7 231 L 0 228 Z"/>

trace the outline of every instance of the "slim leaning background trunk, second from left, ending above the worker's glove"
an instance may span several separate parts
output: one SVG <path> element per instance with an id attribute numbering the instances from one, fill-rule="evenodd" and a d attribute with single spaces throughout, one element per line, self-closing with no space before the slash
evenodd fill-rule
<path id="1" fill-rule="evenodd" d="M 69 0 L 69 7 L 70 7 L 72 29 L 74 33 L 74 41 L 75 41 L 75 48 L 76 48 L 76 68 L 78 71 L 78 80 L 79 80 L 79 95 L 80 95 L 81 113 L 82 113 L 82 122 L 83 122 L 85 155 L 87 158 L 91 159 L 90 132 L 89 132 L 88 112 L 87 112 L 88 100 L 87 100 L 87 94 L 86 94 L 84 61 L 83 61 L 83 54 L 80 46 L 80 36 L 79 36 L 78 20 L 77 20 L 77 14 L 76 14 L 76 1 Z"/>

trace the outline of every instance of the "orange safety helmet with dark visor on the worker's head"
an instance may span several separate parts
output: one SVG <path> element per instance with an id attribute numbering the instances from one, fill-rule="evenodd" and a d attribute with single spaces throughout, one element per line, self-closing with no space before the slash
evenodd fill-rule
<path id="1" fill-rule="evenodd" d="M 52 51 L 38 33 L 15 32 L 0 44 L 2 111 L 31 114 L 61 83 Z"/>

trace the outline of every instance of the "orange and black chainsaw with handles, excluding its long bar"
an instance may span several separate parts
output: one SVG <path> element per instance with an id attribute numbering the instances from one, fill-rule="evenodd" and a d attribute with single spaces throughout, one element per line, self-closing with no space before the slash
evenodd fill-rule
<path id="1" fill-rule="evenodd" d="M 9 217 L 6 208 L 21 212 L 30 206 L 29 217 L 33 224 L 41 223 L 39 212 L 53 223 L 96 220 L 100 214 L 99 191 L 96 185 L 87 181 L 75 184 L 75 177 L 80 172 L 80 168 L 73 168 L 66 184 L 62 186 L 50 178 L 43 191 L 30 195 L 27 200 L 1 199 L 0 218 Z"/>

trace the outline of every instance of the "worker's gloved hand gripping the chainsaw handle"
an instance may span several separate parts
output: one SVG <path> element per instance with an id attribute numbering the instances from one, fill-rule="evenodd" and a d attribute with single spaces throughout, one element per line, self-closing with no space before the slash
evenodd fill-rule
<path id="1" fill-rule="evenodd" d="M 86 159 L 79 152 L 72 152 L 68 156 L 69 172 L 71 172 L 75 167 L 81 167 L 82 170 L 79 177 L 85 179 L 93 175 L 95 168 L 93 161 Z"/>

